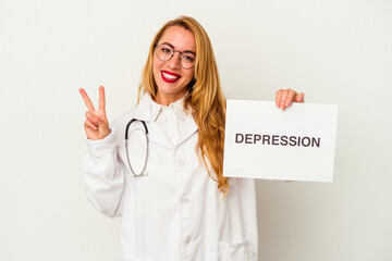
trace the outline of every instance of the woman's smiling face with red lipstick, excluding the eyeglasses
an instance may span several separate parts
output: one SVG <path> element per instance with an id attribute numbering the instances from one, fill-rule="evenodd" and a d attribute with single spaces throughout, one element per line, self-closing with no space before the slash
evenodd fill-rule
<path id="1" fill-rule="evenodd" d="M 181 26 L 171 26 L 158 41 L 161 44 L 169 44 L 173 46 L 174 50 L 185 52 L 192 51 L 196 53 L 195 37 L 191 30 Z M 187 86 L 194 78 L 195 67 L 183 69 L 180 62 L 180 53 L 174 51 L 173 57 L 169 61 L 162 62 L 154 53 L 154 78 L 158 86 L 155 101 L 169 105 L 170 103 L 182 98 L 187 90 Z"/>

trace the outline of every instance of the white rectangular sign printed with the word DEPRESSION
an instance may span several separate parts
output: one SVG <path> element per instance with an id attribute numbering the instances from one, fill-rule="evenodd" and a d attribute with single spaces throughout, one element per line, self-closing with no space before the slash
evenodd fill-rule
<path id="1" fill-rule="evenodd" d="M 338 105 L 228 100 L 223 175 L 332 182 Z"/>

